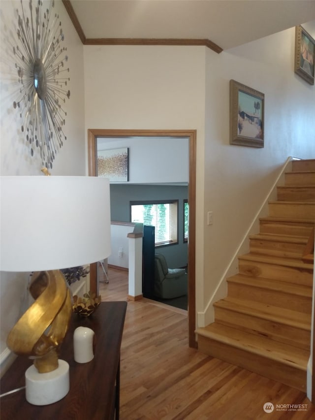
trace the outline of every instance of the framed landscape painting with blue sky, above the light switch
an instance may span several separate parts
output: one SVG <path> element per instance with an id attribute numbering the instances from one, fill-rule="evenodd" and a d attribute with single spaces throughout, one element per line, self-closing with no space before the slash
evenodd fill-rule
<path id="1" fill-rule="evenodd" d="M 230 80 L 230 144 L 264 147 L 265 95 Z"/>

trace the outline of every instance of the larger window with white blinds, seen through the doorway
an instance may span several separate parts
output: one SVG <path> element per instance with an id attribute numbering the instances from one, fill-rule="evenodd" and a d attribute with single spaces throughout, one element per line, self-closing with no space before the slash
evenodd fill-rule
<path id="1" fill-rule="evenodd" d="M 131 222 L 155 226 L 155 245 L 178 243 L 178 200 L 130 201 Z"/>

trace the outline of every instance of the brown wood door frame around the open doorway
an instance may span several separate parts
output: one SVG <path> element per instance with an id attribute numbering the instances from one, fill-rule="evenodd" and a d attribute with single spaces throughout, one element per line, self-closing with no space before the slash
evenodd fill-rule
<path id="1" fill-rule="evenodd" d="M 189 242 L 188 242 L 188 331 L 189 347 L 197 348 L 196 327 L 196 291 L 195 291 L 195 254 L 196 254 L 196 130 L 137 130 L 137 129 L 88 129 L 89 175 L 96 176 L 97 137 L 188 137 L 189 139 Z M 91 264 L 91 291 L 97 288 L 96 263 Z"/>

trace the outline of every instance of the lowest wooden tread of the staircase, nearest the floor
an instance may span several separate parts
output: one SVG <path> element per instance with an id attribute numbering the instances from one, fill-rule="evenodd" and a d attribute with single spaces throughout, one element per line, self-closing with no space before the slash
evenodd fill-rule
<path id="1" fill-rule="evenodd" d="M 306 371 L 310 352 L 277 341 L 260 337 L 226 325 L 212 323 L 197 328 L 198 335 L 227 344 L 229 346 L 280 361 L 285 365 Z"/>

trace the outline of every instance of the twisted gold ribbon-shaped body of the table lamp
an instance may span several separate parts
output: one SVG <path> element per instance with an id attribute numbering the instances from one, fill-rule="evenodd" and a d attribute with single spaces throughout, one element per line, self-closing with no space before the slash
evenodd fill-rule
<path id="1" fill-rule="evenodd" d="M 10 331 L 7 345 L 34 359 L 39 373 L 51 372 L 58 368 L 58 349 L 69 325 L 70 291 L 60 270 L 33 273 L 29 289 L 36 300 Z"/>

